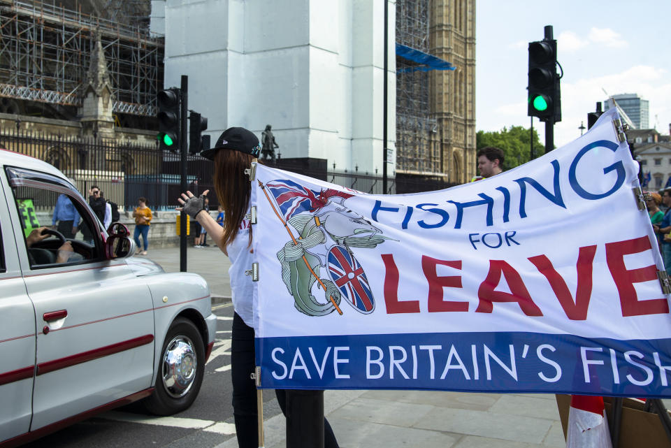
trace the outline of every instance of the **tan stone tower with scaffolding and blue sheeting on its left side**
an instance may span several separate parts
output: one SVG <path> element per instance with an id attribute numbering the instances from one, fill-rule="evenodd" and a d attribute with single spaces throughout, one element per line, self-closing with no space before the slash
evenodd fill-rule
<path id="1" fill-rule="evenodd" d="M 467 182 L 476 165 L 475 0 L 397 0 L 396 43 L 428 61 L 397 52 L 396 179 Z"/>

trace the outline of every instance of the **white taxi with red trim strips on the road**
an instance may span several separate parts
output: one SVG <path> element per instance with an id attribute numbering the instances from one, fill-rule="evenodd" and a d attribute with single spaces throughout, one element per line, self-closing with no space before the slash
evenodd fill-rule
<path id="1" fill-rule="evenodd" d="M 38 222 L 57 203 L 78 222 Z M 136 400 L 193 403 L 216 333 L 208 284 L 134 252 L 63 173 L 0 150 L 0 447 Z"/>

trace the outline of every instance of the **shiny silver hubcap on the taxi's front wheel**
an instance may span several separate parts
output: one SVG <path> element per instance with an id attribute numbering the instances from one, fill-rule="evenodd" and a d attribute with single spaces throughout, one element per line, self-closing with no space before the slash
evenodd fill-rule
<path id="1" fill-rule="evenodd" d="M 175 336 L 163 356 L 163 385 L 168 395 L 185 396 L 194 385 L 197 367 L 194 343 L 184 335 Z"/>

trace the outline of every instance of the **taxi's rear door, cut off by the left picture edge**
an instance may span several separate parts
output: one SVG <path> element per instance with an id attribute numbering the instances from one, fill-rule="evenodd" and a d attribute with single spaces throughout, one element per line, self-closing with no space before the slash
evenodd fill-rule
<path id="1" fill-rule="evenodd" d="M 27 433 L 35 373 L 35 312 L 21 277 L 0 179 L 0 442 Z"/>

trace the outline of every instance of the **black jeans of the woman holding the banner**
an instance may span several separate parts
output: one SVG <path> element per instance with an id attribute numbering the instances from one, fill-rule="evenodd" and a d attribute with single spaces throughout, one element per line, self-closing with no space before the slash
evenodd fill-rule
<path id="1" fill-rule="evenodd" d="M 240 448 L 258 448 L 257 386 L 250 375 L 254 372 L 254 328 L 247 326 L 236 312 L 231 333 L 231 378 L 233 380 L 233 417 Z M 285 413 L 286 393 L 290 390 L 275 389 L 277 402 Z M 338 448 L 333 429 L 324 419 L 324 448 Z"/>

